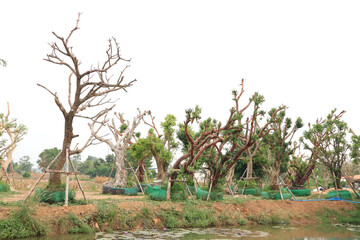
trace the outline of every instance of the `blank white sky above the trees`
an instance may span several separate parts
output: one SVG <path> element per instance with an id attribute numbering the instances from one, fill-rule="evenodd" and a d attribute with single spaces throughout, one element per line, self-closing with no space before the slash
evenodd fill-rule
<path id="1" fill-rule="evenodd" d="M 63 118 L 52 96 L 36 83 L 67 94 L 67 69 L 45 62 L 52 31 L 72 38 L 83 69 L 104 59 L 107 39 L 116 37 L 132 58 L 116 110 L 131 118 L 136 108 L 158 120 L 168 113 L 184 120 L 196 104 L 202 116 L 225 120 L 231 91 L 245 79 L 248 97 L 265 96 L 264 107 L 285 104 L 288 115 L 305 123 L 333 108 L 360 132 L 359 1 L 5 1 L 0 0 L 0 112 L 29 131 L 14 159 L 33 162 L 46 148 L 60 148 Z M 89 134 L 86 123 L 75 134 Z M 78 139 L 75 139 L 75 143 Z M 104 157 L 103 145 L 82 155 Z"/>

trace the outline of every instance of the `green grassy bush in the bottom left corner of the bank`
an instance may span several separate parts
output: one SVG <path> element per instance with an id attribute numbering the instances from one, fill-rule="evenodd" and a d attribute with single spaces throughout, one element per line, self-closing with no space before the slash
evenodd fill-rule
<path id="1" fill-rule="evenodd" d="M 48 228 L 33 217 L 34 209 L 27 205 L 14 210 L 10 218 L 0 220 L 0 239 L 44 236 Z"/>

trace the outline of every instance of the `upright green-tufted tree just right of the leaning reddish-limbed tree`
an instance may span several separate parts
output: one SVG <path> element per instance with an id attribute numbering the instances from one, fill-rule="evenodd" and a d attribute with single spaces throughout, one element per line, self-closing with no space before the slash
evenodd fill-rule
<path id="1" fill-rule="evenodd" d="M 269 112 L 269 116 L 277 111 L 273 108 Z M 291 118 L 285 118 L 286 110 L 279 112 L 276 121 L 271 123 L 273 132 L 264 137 L 264 147 L 262 153 L 267 157 L 266 171 L 269 178 L 270 189 L 277 190 L 279 188 L 279 176 L 286 172 L 290 157 L 298 148 L 298 145 L 292 145 L 292 139 L 300 128 L 303 127 L 301 118 L 297 118 L 295 123 L 292 123 Z"/>

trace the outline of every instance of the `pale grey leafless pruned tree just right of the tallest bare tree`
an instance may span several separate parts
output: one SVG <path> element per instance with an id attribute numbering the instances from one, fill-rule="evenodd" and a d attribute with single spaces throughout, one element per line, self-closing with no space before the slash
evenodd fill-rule
<path id="1" fill-rule="evenodd" d="M 137 126 L 139 126 L 144 115 L 146 114 L 148 114 L 148 111 L 140 112 L 139 110 L 138 115 L 134 117 L 133 122 L 130 125 L 129 121 L 125 122 L 122 114 L 116 113 L 115 116 L 121 123 L 120 128 L 116 126 L 114 119 L 112 119 L 111 124 L 107 124 L 114 141 L 112 139 L 102 137 L 98 134 L 94 127 L 96 121 L 94 121 L 92 124 L 89 124 L 91 133 L 94 135 L 94 137 L 100 142 L 106 143 L 115 155 L 115 178 L 109 182 L 105 182 L 105 186 L 120 188 L 126 187 L 128 177 L 128 171 L 125 168 L 126 151 L 129 149 L 129 146 L 133 144 L 131 140 L 135 137 L 135 129 Z M 106 114 L 104 117 L 104 121 L 101 124 L 104 124 L 105 121 Z"/>

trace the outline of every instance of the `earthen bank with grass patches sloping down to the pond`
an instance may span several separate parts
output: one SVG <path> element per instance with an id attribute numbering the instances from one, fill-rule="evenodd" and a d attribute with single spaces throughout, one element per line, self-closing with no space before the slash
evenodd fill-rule
<path id="1" fill-rule="evenodd" d="M 341 222 L 352 214 L 360 216 L 360 204 L 343 201 L 295 202 L 290 200 L 260 200 L 256 197 L 227 197 L 222 202 L 188 200 L 185 202 L 156 202 L 148 197 L 113 197 L 84 204 L 78 200 L 69 207 L 29 202 L 2 202 L 1 224 L 12 219 L 19 231 L 21 219 L 31 222 L 27 235 L 111 232 L 131 229 L 163 229 L 186 227 L 224 227 L 239 225 L 315 224 L 324 221 Z M 95 196 L 96 198 L 96 196 Z M 19 217 L 19 215 L 21 217 Z M 26 216 L 24 218 L 24 216 Z M 5 219 L 5 220 L 4 220 Z M 29 220 L 30 219 L 30 220 Z M 360 219 L 360 218 L 359 218 Z M 0 226 L 0 239 L 18 237 L 16 232 Z M 8 231 L 8 233 L 4 233 Z M 8 234 L 8 235 L 6 235 Z M 27 236 L 27 235 L 24 236 Z M 31 235 L 32 234 L 32 235 Z"/>

